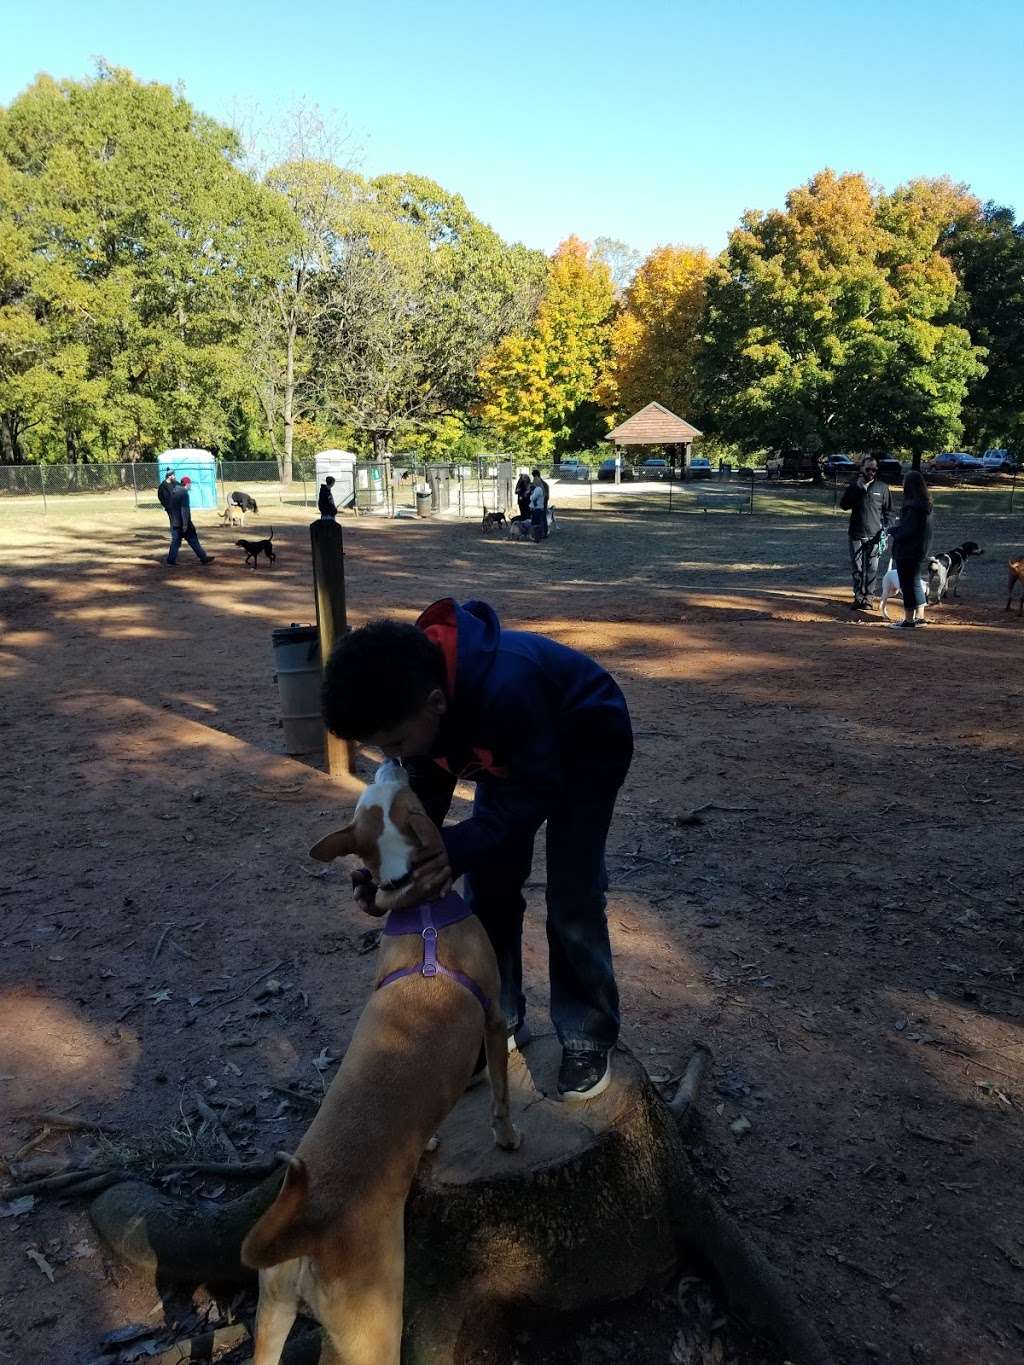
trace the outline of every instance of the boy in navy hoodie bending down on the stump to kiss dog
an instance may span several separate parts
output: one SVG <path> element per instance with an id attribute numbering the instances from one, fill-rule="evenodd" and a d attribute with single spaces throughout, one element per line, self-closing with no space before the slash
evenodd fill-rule
<path id="1" fill-rule="evenodd" d="M 599 1095 L 618 1037 L 605 844 L 634 748 L 614 680 L 586 654 L 502 629 L 486 602 L 445 598 L 415 627 L 374 621 L 344 636 L 328 663 L 324 717 L 335 734 L 401 759 L 438 826 L 456 782 L 475 782 L 472 815 L 442 829 L 444 852 L 422 861 L 414 882 L 429 900 L 466 875 L 497 953 L 509 1047 L 528 1037 L 523 886 L 547 822 L 558 1092 Z"/>

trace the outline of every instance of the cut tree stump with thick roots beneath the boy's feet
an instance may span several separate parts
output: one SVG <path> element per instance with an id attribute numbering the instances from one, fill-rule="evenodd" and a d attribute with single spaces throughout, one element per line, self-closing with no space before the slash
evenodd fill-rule
<path id="1" fill-rule="evenodd" d="M 681 1256 L 709 1265 L 733 1308 L 791 1361 L 825 1365 L 795 1295 L 700 1185 L 677 1114 L 632 1054 L 618 1048 L 609 1089 L 579 1106 L 549 1097 L 558 1061 L 552 1037 L 509 1059 L 519 1152 L 493 1147 L 490 1097 L 479 1087 L 425 1156 L 406 1212 L 403 1365 L 470 1365 L 485 1346 L 497 1358 L 516 1313 L 598 1309 L 662 1280 Z M 202 1213 L 147 1186 L 119 1185 L 91 1215 L 135 1265 L 193 1283 L 225 1280 L 242 1274 L 242 1237 L 279 1185 L 273 1177 Z"/>

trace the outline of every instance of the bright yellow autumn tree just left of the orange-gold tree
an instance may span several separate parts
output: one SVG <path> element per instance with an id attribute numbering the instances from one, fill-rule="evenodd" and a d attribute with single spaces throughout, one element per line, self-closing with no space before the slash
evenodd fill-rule
<path id="1" fill-rule="evenodd" d="M 599 438 L 597 386 L 613 311 L 609 268 L 579 238 L 563 242 L 532 329 L 507 337 L 479 369 L 478 415 L 512 449 L 547 456 Z"/>

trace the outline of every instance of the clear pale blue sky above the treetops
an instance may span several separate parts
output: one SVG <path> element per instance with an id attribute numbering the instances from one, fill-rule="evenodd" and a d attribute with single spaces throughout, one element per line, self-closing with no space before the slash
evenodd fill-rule
<path id="1" fill-rule="evenodd" d="M 96 56 L 228 121 L 314 102 L 356 169 L 431 176 L 545 250 L 717 251 L 825 165 L 949 173 L 1024 214 L 1019 0 L 11 0 L 3 30 L 0 104 Z"/>

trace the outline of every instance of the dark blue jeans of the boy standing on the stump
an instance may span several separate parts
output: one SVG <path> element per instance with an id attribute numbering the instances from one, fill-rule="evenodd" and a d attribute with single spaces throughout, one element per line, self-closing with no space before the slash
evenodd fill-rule
<path id="1" fill-rule="evenodd" d="M 567 790 L 547 818 L 547 961 L 552 1020 L 568 1048 L 610 1048 L 618 1040 L 618 988 L 605 917 L 605 844 L 618 790 Z M 489 792 L 477 786 L 474 811 Z M 534 861 L 535 831 L 513 835 L 485 868 L 466 876 L 466 901 L 481 919 L 501 972 L 509 1029 L 526 1016 L 523 995 L 523 885 Z"/>

